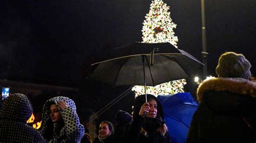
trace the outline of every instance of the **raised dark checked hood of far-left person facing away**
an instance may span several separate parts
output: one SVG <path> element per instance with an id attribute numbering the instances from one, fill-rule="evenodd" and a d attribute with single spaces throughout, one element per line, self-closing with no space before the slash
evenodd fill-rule
<path id="1" fill-rule="evenodd" d="M 33 108 L 28 97 L 23 94 L 11 94 L 3 103 L 0 118 L 26 123 L 32 112 Z"/>

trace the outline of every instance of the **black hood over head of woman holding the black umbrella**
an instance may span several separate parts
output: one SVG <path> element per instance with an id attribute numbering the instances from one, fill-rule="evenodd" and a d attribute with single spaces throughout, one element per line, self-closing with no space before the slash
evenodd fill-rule
<path id="1" fill-rule="evenodd" d="M 156 96 L 147 94 L 147 101 L 149 101 L 150 98 L 153 98 L 157 102 L 157 117 L 161 117 L 161 119 L 164 120 L 164 110 L 163 110 L 161 103 L 159 102 L 159 100 L 157 99 Z M 146 102 L 145 95 L 140 95 L 135 99 L 134 106 L 133 106 L 133 116 L 132 116 L 133 119 L 134 119 L 134 117 L 139 115 L 140 107 L 145 102 Z"/>

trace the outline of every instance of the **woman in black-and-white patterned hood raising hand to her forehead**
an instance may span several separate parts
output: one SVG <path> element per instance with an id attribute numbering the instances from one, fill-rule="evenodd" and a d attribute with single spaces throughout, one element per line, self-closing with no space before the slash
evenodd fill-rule
<path id="1" fill-rule="evenodd" d="M 46 101 L 39 132 L 48 142 L 80 142 L 84 126 L 79 122 L 75 103 L 63 96 Z"/>

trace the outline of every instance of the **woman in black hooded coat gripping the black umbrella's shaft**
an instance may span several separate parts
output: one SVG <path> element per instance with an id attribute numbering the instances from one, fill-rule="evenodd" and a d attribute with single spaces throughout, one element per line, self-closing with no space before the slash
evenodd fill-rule
<path id="1" fill-rule="evenodd" d="M 126 131 L 126 142 L 170 142 L 161 103 L 153 95 L 147 95 L 147 101 L 145 103 L 145 95 L 135 99 L 133 121 Z"/>

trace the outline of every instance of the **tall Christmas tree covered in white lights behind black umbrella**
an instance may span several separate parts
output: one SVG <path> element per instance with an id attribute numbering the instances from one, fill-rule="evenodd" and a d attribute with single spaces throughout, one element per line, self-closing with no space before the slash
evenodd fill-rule
<path id="1" fill-rule="evenodd" d="M 143 23 L 143 42 L 158 43 L 170 42 L 177 47 L 178 37 L 174 35 L 173 29 L 176 24 L 172 22 L 169 12 L 170 6 L 167 6 L 162 0 L 154 0 L 150 4 L 149 13 L 146 14 Z M 156 87 L 147 87 L 147 94 L 152 95 L 171 95 L 178 92 L 184 92 L 185 79 L 166 82 Z M 145 94 L 144 86 L 136 85 L 132 88 L 136 96 Z"/>

